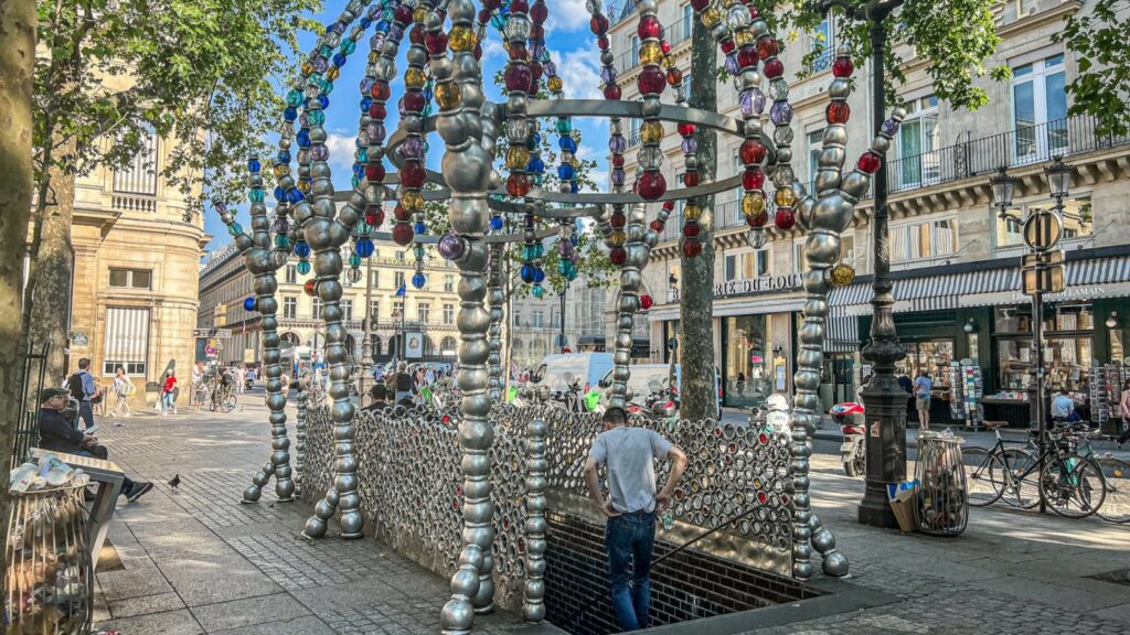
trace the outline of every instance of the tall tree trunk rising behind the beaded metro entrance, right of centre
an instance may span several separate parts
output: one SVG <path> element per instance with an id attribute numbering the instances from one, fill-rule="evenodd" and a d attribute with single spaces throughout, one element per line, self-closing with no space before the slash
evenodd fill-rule
<path id="1" fill-rule="evenodd" d="M 688 105 L 718 112 L 718 58 L 714 37 L 695 20 L 690 40 L 690 77 L 694 78 Z M 698 171 L 703 183 L 712 183 L 718 165 L 718 134 L 698 127 Z M 681 186 L 681 184 L 678 184 Z M 702 199 L 698 220 L 703 252 L 697 258 L 683 256 L 679 280 L 679 345 L 683 348 L 681 417 L 697 420 L 718 417 L 718 391 L 714 385 L 714 197 Z M 686 241 L 686 238 L 683 238 Z M 679 253 L 683 253 L 681 243 Z"/>

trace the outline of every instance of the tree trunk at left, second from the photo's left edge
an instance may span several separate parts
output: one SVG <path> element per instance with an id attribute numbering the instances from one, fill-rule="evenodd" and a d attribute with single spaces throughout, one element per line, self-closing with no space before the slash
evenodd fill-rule
<path id="1" fill-rule="evenodd" d="M 59 140 L 55 153 L 75 153 L 73 138 Z M 28 294 L 31 320 L 27 338 L 33 348 L 51 343 L 46 360 L 47 385 L 60 385 L 67 375 L 70 347 L 71 294 L 75 252 L 71 218 L 75 211 L 75 174 L 52 167 L 47 172 L 47 200 L 40 202 L 43 224 L 33 259 Z M 44 207 L 45 206 L 45 207 Z"/>

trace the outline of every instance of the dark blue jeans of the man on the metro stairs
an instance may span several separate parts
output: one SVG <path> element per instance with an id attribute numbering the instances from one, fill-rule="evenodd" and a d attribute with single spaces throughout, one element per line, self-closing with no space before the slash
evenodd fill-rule
<path id="1" fill-rule="evenodd" d="M 617 624 L 625 632 L 647 628 L 651 624 L 651 555 L 654 545 L 653 512 L 621 514 L 608 519 L 605 524 L 612 610 Z"/>

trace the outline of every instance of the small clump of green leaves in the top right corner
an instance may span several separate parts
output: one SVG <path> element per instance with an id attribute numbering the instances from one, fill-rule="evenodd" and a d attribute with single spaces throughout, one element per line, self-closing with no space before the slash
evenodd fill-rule
<path id="1" fill-rule="evenodd" d="M 1122 136 L 1130 98 L 1130 1 L 1096 0 L 1089 15 L 1068 16 L 1064 27 L 1052 35 L 1076 53 L 1078 75 L 1068 85 L 1070 114 L 1098 120 L 1099 134 Z"/>

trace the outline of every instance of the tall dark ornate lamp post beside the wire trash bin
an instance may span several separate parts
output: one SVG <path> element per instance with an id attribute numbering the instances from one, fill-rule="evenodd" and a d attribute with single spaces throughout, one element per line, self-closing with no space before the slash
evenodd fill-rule
<path id="1" fill-rule="evenodd" d="M 884 24 L 904 0 L 823 0 L 826 12 L 844 9 L 847 19 L 866 20 L 871 40 L 871 123 L 878 136 L 885 121 L 885 60 L 887 27 Z M 894 131 L 887 131 L 894 134 Z M 875 214 L 871 219 L 871 249 L 875 253 L 875 280 L 871 284 L 871 341 L 863 347 L 863 358 L 871 363 L 871 383 L 863 390 L 867 409 L 867 489 L 859 504 L 859 522 L 875 527 L 898 527 L 887 502 L 887 485 L 906 480 L 906 399 L 895 377 L 895 364 L 906 357 L 895 330 L 890 279 L 890 243 L 887 238 L 887 162 L 875 175 Z"/>

